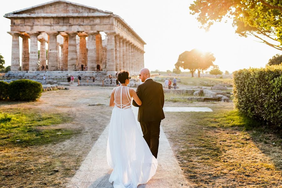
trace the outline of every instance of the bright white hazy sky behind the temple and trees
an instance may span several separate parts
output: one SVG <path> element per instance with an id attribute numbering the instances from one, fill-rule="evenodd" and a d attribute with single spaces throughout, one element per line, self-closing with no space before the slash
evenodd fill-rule
<path id="1" fill-rule="evenodd" d="M 0 14 L 28 8 L 48 0 L 13 0 L 1 3 Z M 214 54 L 222 71 L 233 72 L 249 67 L 264 67 L 280 50 L 255 41 L 254 38 L 235 34 L 232 20 L 214 24 L 209 32 L 199 28 L 194 15 L 190 14 L 192 0 L 71 0 L 74 3 L 108 10 L 123 18 L 147 43 L 144 47 L 145 67 L 150 70 L 172 70 L 178 56 L 194 48 Z M 0 17 L 0 54 L 5 66 L 11 65 L 12 36 L 10 19 Z M 21 40 L 21 38 L 20 38 Z M 20 44 L 21 47 L 21 44 Z M 21 50 L 21 49 L 20 49 Z"/>

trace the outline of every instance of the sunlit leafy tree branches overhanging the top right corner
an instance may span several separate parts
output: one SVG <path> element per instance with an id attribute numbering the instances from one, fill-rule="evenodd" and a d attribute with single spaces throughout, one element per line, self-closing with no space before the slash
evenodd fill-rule
<path id="1" fill-rule="evenodd" d="M 195 0 L 190 10 L 202 28 L 209 29 L 224 17 L 232 18 L 240 36 L 251 35 L 282 50 L 281 0 Z"/>

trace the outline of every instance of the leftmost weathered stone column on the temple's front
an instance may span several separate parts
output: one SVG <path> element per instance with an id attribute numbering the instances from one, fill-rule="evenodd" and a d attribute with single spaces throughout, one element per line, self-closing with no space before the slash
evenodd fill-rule
<path id="1" fill-rule="evenodd" d="M 19 70 L 19 39 L 20 34 L 11 33 L 12 35 L 12 58 L 11 58 L 11 70 Z"/>

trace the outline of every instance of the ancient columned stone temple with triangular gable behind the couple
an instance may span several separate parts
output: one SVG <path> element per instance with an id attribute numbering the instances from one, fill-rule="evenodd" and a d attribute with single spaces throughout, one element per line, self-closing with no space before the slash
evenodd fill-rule
<path id="1" fill-rule="evenodd" d="M 138 72 L 144 67 L 143 39 L 118 15 L 109 11 L 55 0 L 7 13 L 11 20 L 11 70 L 87 71 L 101 69 Z M 100 32 L 107 34 L 102 40 Z M 19 37 L 23 39 L 22 52 Z M 30 46 L 29 46 L 30 40 Z M 38 59 L 38 42 L 40 53 Z M 46 43 L 48 53 L 46 55 Z"/>

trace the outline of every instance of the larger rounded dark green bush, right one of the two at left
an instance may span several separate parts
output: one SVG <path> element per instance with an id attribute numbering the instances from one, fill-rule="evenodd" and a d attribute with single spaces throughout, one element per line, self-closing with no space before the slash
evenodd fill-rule
<path id="1" fill-rule="evenodd" d="M 41 96 L 41 83 L 32 80 L 12 81 L 8 86 L 8 96 L 11 100 L 33 101 Z"/>

